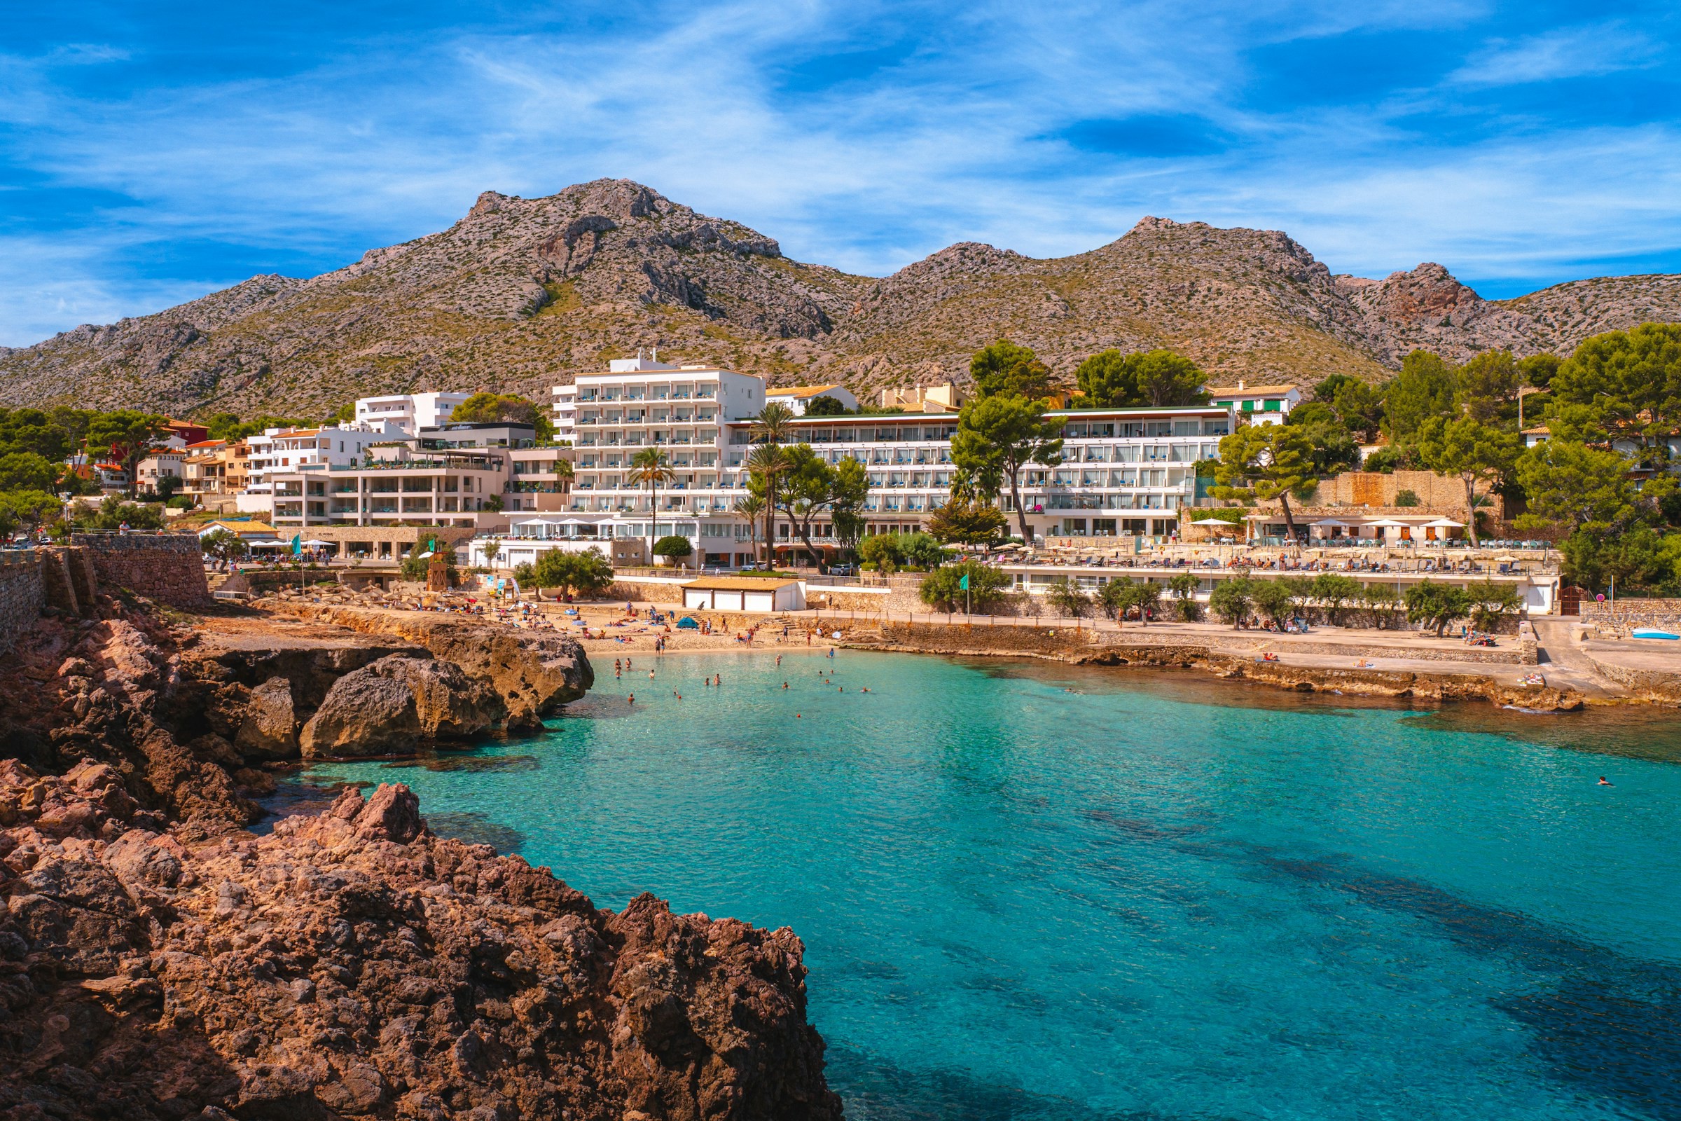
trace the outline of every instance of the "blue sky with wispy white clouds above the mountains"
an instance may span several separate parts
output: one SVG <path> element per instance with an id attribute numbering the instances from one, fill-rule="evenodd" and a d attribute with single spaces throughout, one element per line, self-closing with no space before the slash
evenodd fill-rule
<path id="1" fill-rule="evenodd" d="M 1681 272 L 1681 5 L 24 3 L 0 345 L 629 176 L 886 274 L 1146 213 L 1484 296 Z"/>

